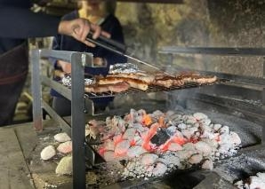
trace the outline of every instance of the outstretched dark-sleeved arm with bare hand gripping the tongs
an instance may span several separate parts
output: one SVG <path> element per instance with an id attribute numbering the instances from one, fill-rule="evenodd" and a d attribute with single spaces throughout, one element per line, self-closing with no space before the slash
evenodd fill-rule
<path id="1" fill-rule="evenodd" d="M 0 5 L 0 36 L 8 38 L 28 38 L 52 36 L 58 33 L 71 35 L 76 40 L 89 46 L 92 43 L 85 41 L 92 29 L 93 38 L 99 35 L 110 35 L 97 25 L 90 24 L 87 20 L 61 20 L 57 17 L 43 13 L 34 13 L 28 9 L 6 7 Z"/>

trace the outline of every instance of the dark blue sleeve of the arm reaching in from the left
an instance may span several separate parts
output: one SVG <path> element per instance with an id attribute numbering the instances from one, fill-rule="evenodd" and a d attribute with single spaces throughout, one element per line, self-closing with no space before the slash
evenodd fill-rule
<path id="1" fill-rule="evenodd" d="M 27 9 L 0 7 L 0 36 L 28 38 L 58 33 L 60 18 Z"/>

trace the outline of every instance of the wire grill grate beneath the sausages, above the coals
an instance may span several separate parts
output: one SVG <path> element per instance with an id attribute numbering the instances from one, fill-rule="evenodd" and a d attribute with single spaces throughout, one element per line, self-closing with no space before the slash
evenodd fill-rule
<path id="1" fill-rule="evenodd" d="M 100 92 L 100 93 L 85 93 L 84 98 L 110 98 L 110 97 L 115 97 L 116 95 L 126 95 L 126 94 L 134 94 L 134 93 L 139 93 L 139 92 L 158 92 L 158 91 L 176 91 L 176 90 L 184 90 L 184 89 L 189 89 L 189 88 L 196 88 L 200 86 L 206 86 L 206 85 L 213 85 L 213 84 L 221 84 L 221 83 L 228 83 L 228 79 L 218 79 L 216 82 L 213 83 L 186 83 L 182 86 L 173 86 L 170 88 L 162 87 L 162 86 L 157 86 L 157 85 L 149 85 L 149 89 L 147 91 L 141 91 L 135 88 L 130 88 L 127 91 L 122 91 L 122 92 Z"/>

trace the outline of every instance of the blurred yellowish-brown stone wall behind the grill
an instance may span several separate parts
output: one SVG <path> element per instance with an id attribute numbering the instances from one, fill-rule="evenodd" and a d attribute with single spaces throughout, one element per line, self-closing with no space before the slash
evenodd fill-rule
<path id="1" fill-rule="evenodd" d="M 118 3 L 116 16 L 124 27 L 129 50 L 166 67 L 162 46 L 264 47 L 265 0 L 185 0 L 184 4 Z M 173 67 L 189 67 L 259 75 L 263 59 L 217 56 L 176 56 Z"/>

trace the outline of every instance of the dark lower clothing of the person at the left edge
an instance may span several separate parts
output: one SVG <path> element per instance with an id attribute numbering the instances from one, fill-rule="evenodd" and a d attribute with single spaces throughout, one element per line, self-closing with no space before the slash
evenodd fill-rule
<path id="1" fill-rule="evenodd" d="M 27 75 L 27 44 L 21 44 L 0 56 L 0 126 L 12 124 Z"/>

